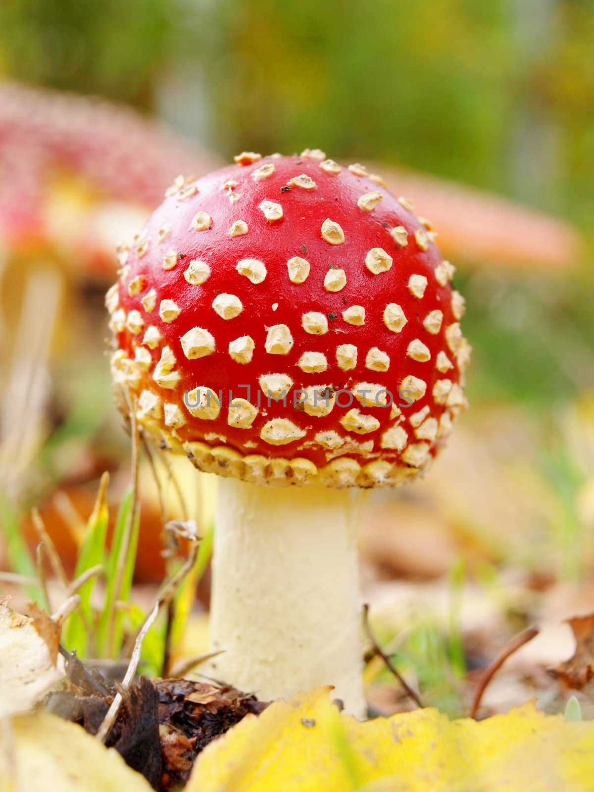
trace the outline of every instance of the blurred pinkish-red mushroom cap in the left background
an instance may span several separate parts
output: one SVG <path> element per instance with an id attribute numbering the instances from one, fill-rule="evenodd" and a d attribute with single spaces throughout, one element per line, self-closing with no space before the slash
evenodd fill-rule
<path id="1" fill-rule="evenodd" d="M 85 268 L 98 265 L 101 272 L 105 267 L 103 218 L 97 219 L 97 207 L 118 211 L 116 225 L 130 228 L 122 204 L 128 211 L 137 208 L 143 219 L 147 207 L 159 200 L 171 173 L 180 169 L 203 173 L 214 164 L 218 164 L 215 158 L 129 108 L 17 83 L 0 85 L 3 246 L 22 249 L 50 244 L 63 250 L 66 245 L 75 250 L 78 265 L 82 258 Z M 61 181 L 69 188 L 68 211 L 62 210 L 67 233 L 58 233 L 56 238 L 52 215 L 59 211 L 59 205 L 53 204 Z M 74 185 L 80 211 L 72 216 Z"/>

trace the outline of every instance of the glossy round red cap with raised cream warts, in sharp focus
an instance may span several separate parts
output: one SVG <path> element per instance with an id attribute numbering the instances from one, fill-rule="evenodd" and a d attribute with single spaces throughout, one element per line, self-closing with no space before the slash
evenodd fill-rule
<path id="1" fill-rule="evenodd" d="M 322 152 L 178 179 L 108 293 L 116 384 L 201 470 L 394 485 L 466 406 L 470 347 L 427 220 Z"/>

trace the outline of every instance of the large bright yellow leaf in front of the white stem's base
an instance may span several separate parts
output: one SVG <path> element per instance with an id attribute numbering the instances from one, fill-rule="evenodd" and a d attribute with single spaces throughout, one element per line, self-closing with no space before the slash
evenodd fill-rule
<path id="1" fill-rule="evenodd" d="M 594 722 L 531 703 L 479 723 L 432 709 L 360 723 L 320 688 L 208 745 L 187 792 L 588 792 L 592 756 Z"/>

